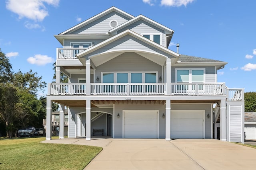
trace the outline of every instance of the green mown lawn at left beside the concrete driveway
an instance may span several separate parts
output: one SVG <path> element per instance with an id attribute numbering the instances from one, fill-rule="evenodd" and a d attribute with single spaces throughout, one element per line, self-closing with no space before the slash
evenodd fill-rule
<path id="1" fill-rule="evenodd" d="M 0 170 L 82 170 L 101 147 L 40 143 L 45 137 L 0 138 Z"/>

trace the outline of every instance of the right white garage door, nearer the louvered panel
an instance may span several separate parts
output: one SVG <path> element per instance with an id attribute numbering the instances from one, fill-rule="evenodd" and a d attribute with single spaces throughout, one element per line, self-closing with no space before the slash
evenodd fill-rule
<path id="1" fill-rule="evenodd" d="M 171 138 L 204 138 L 204 111 L 172 110 Z"/>

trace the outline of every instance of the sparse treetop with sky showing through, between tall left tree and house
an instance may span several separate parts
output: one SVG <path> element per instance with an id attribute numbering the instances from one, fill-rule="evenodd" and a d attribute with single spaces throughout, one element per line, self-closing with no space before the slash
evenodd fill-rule
<path id="1" fill-rule="evenodd" d="M 36 95 L 38 90 L 44 90 L 46 82 L 42 81 L 42 76 L 38 76 L 37 72 L 22 73 L 20 70 L 14 74 L 14 86 L 20 90 L 25 90 L 30 94 Z"/>

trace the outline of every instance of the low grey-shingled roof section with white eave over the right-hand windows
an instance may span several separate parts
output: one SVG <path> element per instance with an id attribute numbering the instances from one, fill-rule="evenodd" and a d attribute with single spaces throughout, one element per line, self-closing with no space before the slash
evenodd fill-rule
<path id="1" fill-rule="evenodd" d="M 184 66 L 184 64 L 187 65 L 200 65 L 203 64 L 204 66 L 210 66 L 210 65 L 215 65 L 218 66 L 218 69 L 223 68 L 226 64 L 228 64 L 227 62 L 224 61 L 218 61 L 218 60 L 213 60 L 213 59 L 206 59 L 206 58 L 201 58 L 201 57 L 194 57 L 194 56 L 189 56 L 189 55 L 180 55 L 180 57 L 177 59 L 176 63 L 180 65 L 180 66 Z"/>

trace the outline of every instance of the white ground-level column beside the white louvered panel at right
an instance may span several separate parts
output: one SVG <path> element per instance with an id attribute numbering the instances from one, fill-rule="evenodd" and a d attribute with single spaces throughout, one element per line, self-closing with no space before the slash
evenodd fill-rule
<path id="1" fill-rule="evenodd" d="M 226 141 L 226 100 L 220 102 L 220 141 Z"/>

